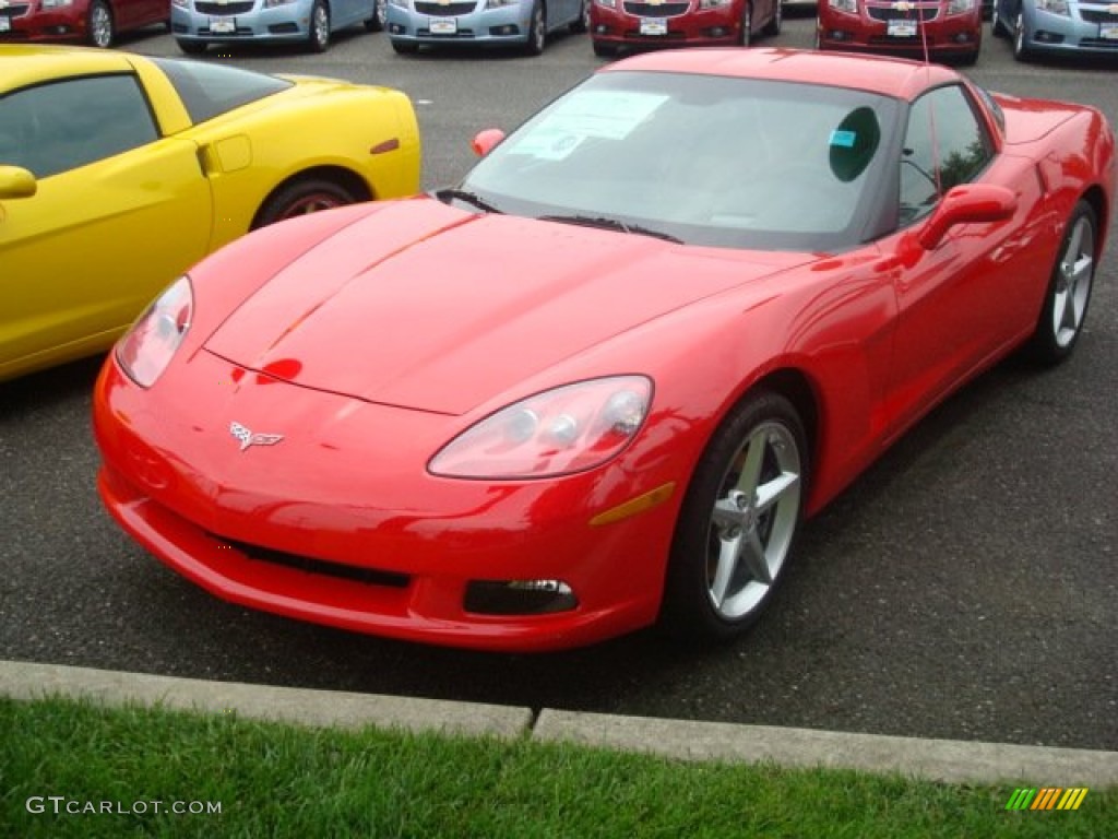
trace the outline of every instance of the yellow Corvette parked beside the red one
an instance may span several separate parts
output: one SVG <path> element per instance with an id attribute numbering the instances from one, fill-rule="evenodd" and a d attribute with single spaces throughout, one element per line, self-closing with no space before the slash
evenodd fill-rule
<path id="1" fill-rule="evenodd" d="M 0 380 L 107 348 L 255 227 L 419 188 L 398 91 L 80 47 L 0 66 Z"/>

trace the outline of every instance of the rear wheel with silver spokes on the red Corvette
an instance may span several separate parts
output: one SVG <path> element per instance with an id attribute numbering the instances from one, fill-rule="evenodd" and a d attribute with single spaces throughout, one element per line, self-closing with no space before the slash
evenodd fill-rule
<path id="1" fill-rule="evenodd" d="M 1095 208 L 1080 200 L 1068 218 L 1036 329 L 1025 345 L 1025 355 L 1039 364 L 1063 361 L 1079 342 L 1091 303 L 1098 230 Z"/>

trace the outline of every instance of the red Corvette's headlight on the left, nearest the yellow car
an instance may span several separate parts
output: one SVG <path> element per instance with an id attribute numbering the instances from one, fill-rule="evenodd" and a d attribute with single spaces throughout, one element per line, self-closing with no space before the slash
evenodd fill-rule
<path id="1" fill-rule="evenodd" d="M 116 361 L 140 387 L 151 387 L 190 331 L 195 293 L 180 276 L 155 298 L 116 345 Z"/>

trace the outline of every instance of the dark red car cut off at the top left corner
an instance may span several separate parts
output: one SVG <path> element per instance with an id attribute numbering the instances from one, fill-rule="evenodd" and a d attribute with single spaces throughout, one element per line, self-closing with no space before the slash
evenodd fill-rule
<path id="1" fill-rule="evenodd" d="M 76 40 L 110 47 L 116 32 L 170 19 L 170 0 L 0 0 L 0 44 Z"/>

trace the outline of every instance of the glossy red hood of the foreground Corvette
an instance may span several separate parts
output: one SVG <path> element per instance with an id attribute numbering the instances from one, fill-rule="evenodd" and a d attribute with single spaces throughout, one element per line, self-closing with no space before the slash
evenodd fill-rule
<path id="1" fill-rule="evenodd" d="M 808 258 L 408 200 L 288 264 L 206 347 L 305 387 L 461 414 L 642 322 Z M 616 371 L 629 368 L 638 361 Z"/>

